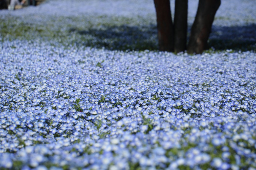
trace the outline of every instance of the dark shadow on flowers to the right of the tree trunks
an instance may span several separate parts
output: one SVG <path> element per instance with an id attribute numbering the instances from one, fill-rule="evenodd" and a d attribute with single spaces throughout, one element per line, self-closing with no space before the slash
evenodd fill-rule
<path id="1" fill-rule="evenodd" d="M 213 26 L 209 46 L 216 50 L 256 51 L 256 24 L 248 26 Z"/>

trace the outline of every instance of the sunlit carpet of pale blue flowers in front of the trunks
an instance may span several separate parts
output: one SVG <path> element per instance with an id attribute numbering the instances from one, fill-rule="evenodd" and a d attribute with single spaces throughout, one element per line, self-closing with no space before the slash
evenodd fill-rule
<path id="1" fill-rule="evenodd" d="M 2 168 L 255 165 L 254 53 L 1 48 Z"/>

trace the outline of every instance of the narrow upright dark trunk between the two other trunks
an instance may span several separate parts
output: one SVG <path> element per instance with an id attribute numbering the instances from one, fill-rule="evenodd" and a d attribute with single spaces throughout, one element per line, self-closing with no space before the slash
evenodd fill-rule
<path id="1" fill-rule="evenodd" d="M 187 47 L 188 0 L 175 0 L 174 52 L 179 53 Z"/>

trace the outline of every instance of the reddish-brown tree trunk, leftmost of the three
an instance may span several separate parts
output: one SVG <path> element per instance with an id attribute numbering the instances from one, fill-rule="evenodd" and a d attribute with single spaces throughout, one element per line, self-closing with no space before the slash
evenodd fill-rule
<path id="1" fill-rule="evenodd" d="M 160 51 L 173 52 L 173 23 L 169 0 L 154 0 Z"/>

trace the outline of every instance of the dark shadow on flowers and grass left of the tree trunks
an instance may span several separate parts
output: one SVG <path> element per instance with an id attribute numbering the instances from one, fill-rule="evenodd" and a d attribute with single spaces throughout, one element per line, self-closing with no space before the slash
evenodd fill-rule
<path id="1" fill-rule="evenodd" d="M 157 30 L 156 26 L 99 26 L 89 30 L 79 30 L 70 28 L 69 32 L 78 33 L 85 46 L 97 47 L 108 50 L 157 50 Z"/>

